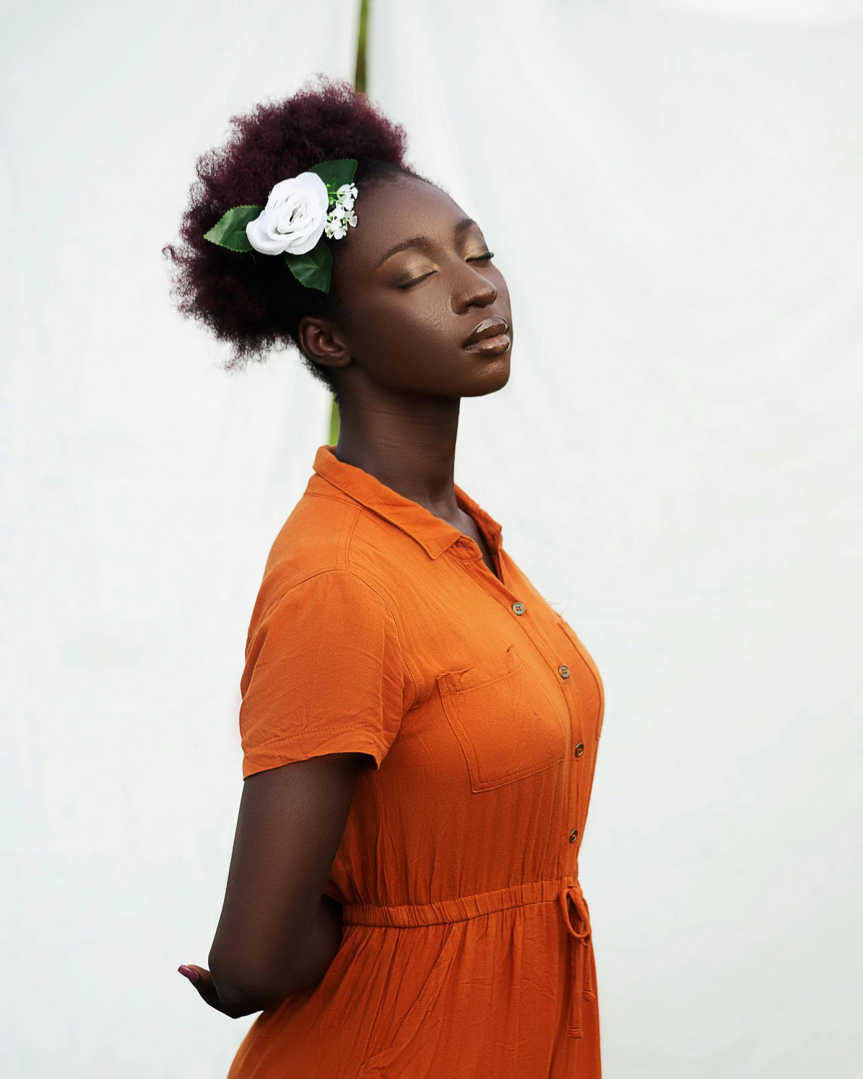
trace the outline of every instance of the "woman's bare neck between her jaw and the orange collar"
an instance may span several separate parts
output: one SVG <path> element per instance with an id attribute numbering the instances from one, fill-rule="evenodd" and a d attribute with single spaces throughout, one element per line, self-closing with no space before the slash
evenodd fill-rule
<path id="1" fill-rule="evenodd" d="M 362 382 L 361 387 L 343 386 L 335 456 L 437 517 L 457 521 L 453 474 L 460 398 L 397 394 Z"/>

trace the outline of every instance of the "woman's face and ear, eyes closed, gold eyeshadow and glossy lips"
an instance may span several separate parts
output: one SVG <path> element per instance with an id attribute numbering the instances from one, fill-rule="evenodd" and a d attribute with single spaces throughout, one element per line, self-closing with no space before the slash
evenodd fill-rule
<path id="1" fill-rule="evenodd" d="M 344 318 L 304 319 L 304 351 L 342 368 L 340 388 L 352 367 L 397 393 L 476 397 L 506 385 L 509 292 L 479 226 L 411 176 L 360 186 L 356 215 L 332 268 Z"/>

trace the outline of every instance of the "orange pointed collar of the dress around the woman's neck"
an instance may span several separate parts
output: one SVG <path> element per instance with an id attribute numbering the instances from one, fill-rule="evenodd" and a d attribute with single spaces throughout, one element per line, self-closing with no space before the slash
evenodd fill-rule
<path id="1" fill-rule="evenodd" d="M 321 479 L 407 533 L 429 558 L 438 558 L 462 535 L 458 529 L 436 517 L 430 509 L 403 497 L 361 468 L 340 461 L 330 446 L 318 449 L 314 469 Z M 460 487 L 455 488 L 455 496 L 462 509 L 477 522 L 492 552 L 496 554 L 502 543 L 501 525 Z"/>

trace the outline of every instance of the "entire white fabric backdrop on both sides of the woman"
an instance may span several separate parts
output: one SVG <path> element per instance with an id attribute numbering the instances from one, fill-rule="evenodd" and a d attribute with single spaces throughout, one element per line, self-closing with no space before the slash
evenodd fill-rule
<path id="1" fill-rule="evenodd" d="M 0 1067 L 218 1079 L 247 1021 L 175 968 L 328 402 L 222 373 L 160 248 L 233 111 L 351 73 L 356 4 L 4 12 Z M 369 60 L 513 292 L 458 480 L 605 680 L 605 1074 L 855 1079 L 863 4 L 372 0 Z"/>

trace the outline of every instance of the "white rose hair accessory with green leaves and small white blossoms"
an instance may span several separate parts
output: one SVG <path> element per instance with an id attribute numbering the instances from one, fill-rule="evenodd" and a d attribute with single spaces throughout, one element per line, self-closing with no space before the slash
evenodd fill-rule
<path id="1" fill-rule="evenodd" d="M 342 240 L 357 223 L 356 169 L 353 158 L 313 165 L 276 183 L 265 206 L 229 209 L 204 238 L 232 251 L 283 255 L 301 285 L 329 292 L 332 252 L 324 236 Z"/>

